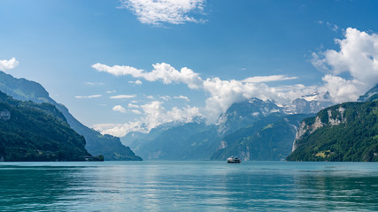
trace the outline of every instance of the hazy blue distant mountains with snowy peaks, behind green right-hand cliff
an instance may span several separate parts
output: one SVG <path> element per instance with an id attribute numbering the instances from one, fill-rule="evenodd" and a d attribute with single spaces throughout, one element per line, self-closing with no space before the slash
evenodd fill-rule
<path id="1" fill-rule="evenodd" d="M 215 125 L 205 125 L 201 119 L 169 123 L 150 133 L 127 133 L 121 140 L 149 160 L 225 160 L 229 155 L 243 160 L 284 160 L 300 121 L 330 104 L 324 96 L 314 93 L 289 106 L 252 98 L 231 105 Z"/>

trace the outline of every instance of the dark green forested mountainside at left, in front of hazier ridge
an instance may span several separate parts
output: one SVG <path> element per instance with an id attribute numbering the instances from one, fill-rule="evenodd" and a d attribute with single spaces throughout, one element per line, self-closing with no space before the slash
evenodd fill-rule
<path id="1" fill-rule="evenodd" d="M 1 161 L 83 161 L 87 156 L 84 137 L 54 105 L 0 92 Z"/>

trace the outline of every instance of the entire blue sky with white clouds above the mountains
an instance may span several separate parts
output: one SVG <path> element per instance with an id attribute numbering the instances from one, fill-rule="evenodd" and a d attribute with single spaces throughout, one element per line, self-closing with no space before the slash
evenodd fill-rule
<path id="1" fill-rule="evenodd" d="M 252 97 L 356 101 L 378 83 L 376 11 L 374 0 L 0 0 L 0 70 L 101 133 L 212 124 Z"/>

